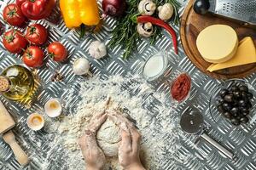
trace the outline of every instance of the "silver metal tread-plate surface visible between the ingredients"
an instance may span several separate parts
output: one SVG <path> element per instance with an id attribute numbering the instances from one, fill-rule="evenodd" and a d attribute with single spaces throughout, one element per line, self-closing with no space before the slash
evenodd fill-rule
<path id="1" fill-rule="evenodd" d="M 11 3 L 8 1 L 1 1 L 1 11 L 3 7 Z M 183 8 L 187 1 L 180 0 Z M 180 8 L 179 13 L 183 13 L 183 8 Z M 59 9 L 55 8 L 53 18 L 57 17 L 59 14 Z M 1 14 L 2 17 L 2 14 Z M 50 19 L 49 19 L 50 20 Z M 38 23 L 46 26 L 49 29 L 49 42 L 60 41 L 68 49 L 68 61 L 66 64 L 60 64 L 48 59 L 45 59 L 45 65 L 43 68 L 36 70 L 38 76 L 41 79 L 42 90 L 38 94 L 37 102 L 32 106 L 31 109 L 26 109 L 24 106 L 19 105 L 15 102 L 7 101 L 1 96 L 0 99 L 3 104 L 9 109 L 9 112 L 15 116 L 17 120 L 17 126 L 15 127 L 15 134 L 18 142 L 23 145 L 26 152 L 33 157 L 31 163 L 27 167 L 20 167 L 19 163 L 15 160 L 15 156 L 10 150 L 9 146 L 0 139 L 0 169 L 3 170 L 16 170 L 16 169 L 41 169 L 41 161 L 44 160 L 44 151 L 51 148 L 47 141 L 44 141 L 44 133 L 36 133 L 36 136 L 29 135 L 30 129 L 26 127 L 26 117 L 33 111 L 42 109 L 45 101 L 51 97 L 64 98 L 65 89 L 76 88 L 78 86 L 78 80 L 83 77 L 77 77 L 73 74 L 72 64 L 74 59 L 79 57 L 84 57 L 90 60 L 91 69 L 95 75 L 100 75 L 102 77 L 108 77 L 109 75 L 123 75 L 127 76 L 127 72 L 132 74 L 141 74 L 141 68 L 143 62 L 148 58 L 149 54 L 154 53 L 159 50 L 168 50 L 170 54 L 172 74 L 170 77 L 174 77 L 178 72 L 188 72 L 193 80 L 192 91 L 187 101 L 183 102 L 182 105 L 177 106 L 177 113 L 180 115 L 185 111 L 189 105 L 194 105 L 199 111 L 204 115 L 205 122 L 209 126 L 210 130 L 208 133 L 213 139 L 216 139 L 221 144 L 223 144 L 229 150 L 237 156 L 237 161 L 230 161 L 218 153 L 217 150 L 212 148 L 210 144 L 204 141 L 198 141 L 197 147 L 192 147 L 191 144 L 193 138 L 182 139 L 182 147 L 178 150 L 177 156 L 191 155 L 189 160 L 184 162 L 175 162 L 174 160 L 168 160 L 166 155 L 166 160 L 162 160 L 160 169 L 219 169 L 219 170 L 255 170 L 256 169 L 256 124 L 253 123 L 248 127 L 236 128 L 226 124 L 223 126 L 218 126 L 216 122 L 213 122 L 212 117 L 209 113 L 209 96 L 212 89 L 220 83 L 218 80 L 214 80 L 211 77 L 201 73 L 195 65 L 193 65 L 183 52 L 183 48 L 179 42 L 179 54 L 176 55 L 172 48 L 172 39 L 163 31 L 166 35 L 158 39 L 158 41 L 153 46 L 149 45 L 147 40 L 143 40 L 138 43 L 138 50 L 132 56 L 124 60 L 120 56 L 123 53 L 121 47 L 116 47 L 113 50 L 108 48 L 108 57 L 96 60 L 91 59 L 88 54 L 88 48 L 90 42 L 94 40 L 100 40 L 105 42 L 108 47 L 108 42 L 111 37 L 111 30 L 115 26 L 115 20 L 112 18 L 107 18 L 104 20 L 104 26 L 102 31 L 94 35 L 87 34 L 83 40 L 79 40 L 79 33 L 76 30 L 68 30 L 64 25 L 62 20 L 58 20 L 59 23 L 53 24 L 49 20 L 39 20 Z M 1 25 L 4 27 L 3 18 L 1 18 Z M 20 29 L 24 31 L 24 29 Z M 175 30 L 178 32 L 179 29 L 176 26 Z M 2 42 L 3 37 L 1 37 L 0 42 Z M 49 43 L 48 42 L 48 43 Z M 0 71 L 3 71 L 9 65 L 21 64 L 20 55 L 9 54 L 3 48 L 3 44 L 0 44 Z M 61 82 L 52 82 L 51 78 L 54 77 L 56 71 L 58 71 L 64 78 Z M 247 81 L 250 82 L 254 87 L 256 86 L 256 74 L 246 77 Z M 168 87 L 165 84 L 155 83 L 154 88 L 160 93 L 169 94 Z M 157 101 L 157 100 L 156 100 Z M 76 100 L 74 99 L 74 102 Z M 152 104 L 150 104 L 152 105 Z M 148 110 L 150 110 L 150 105 L 148 105 Z M 255 107 L 255 105 L 254 105 Z M 167 137 L 165 137 L 166 140 Z M 26 145 L 30 145 L 27 148 Z M 38 145 L 40 144 L 40 145 Z M 167 153 L 166 153 L 167 154 Z M 58 161 L 55 161 L 58 160 Z M 65 159 L 64 159 L 65 160 Z M 61 156 L 51 157 L 48 160 L 51 163 L 49 169 L 67 169 L 66 167 L 61 167 L 63 159 Z"/>

